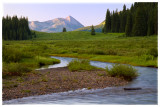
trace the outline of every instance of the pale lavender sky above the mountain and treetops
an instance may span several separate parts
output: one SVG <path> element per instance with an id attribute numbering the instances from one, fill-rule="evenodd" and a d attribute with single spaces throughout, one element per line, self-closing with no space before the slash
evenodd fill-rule
<path id="1" fill-rule="evenodd" d="M 84 26 L 98 25 L 110 11 L 130 8 L 132 3 L 4 3 L 3 16 L 28 17 L 29 21 L 47 21 L 72 16 Z"/>

